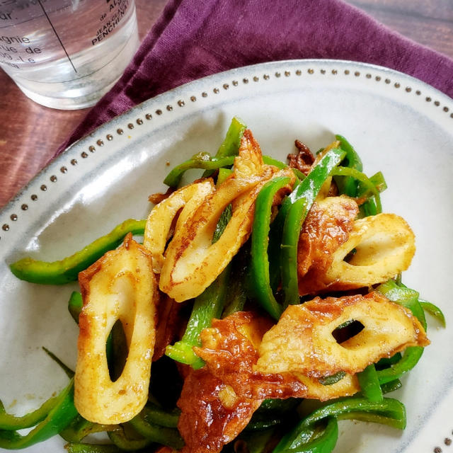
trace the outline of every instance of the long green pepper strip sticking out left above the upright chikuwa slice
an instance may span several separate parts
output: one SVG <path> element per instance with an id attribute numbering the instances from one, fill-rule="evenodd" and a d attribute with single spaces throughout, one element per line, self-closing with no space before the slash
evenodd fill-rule
<path id="1" fill-rule="evenodd" d="M 110 233 L 93 241 L 74 255 L 52 263 L 23 258 L 10 265 L 11 272 L 21 280 L 42 285 L 63 285 L 77 280 L 85 270 L 103 254 L 120 245 L 126 234 L 144 234 L 146 220 L 128 219 L 115 226 Z"/>

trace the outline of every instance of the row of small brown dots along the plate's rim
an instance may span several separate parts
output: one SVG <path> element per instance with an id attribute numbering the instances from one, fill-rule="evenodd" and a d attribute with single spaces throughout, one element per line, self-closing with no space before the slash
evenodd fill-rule
<path id="1" fill-rule="evenodd" d="M 343 74 L 343 76 L 365 77 L 365 79 L 368 79 L 370 81 L 374 81 L 376 83 L 383 83 L 383 84 L 389 85 L 389 86 L 391 86 L 391 87 L 393 87 L 395 89 L 402 88 L 406 93 L 413 93 L 415 96 L 420 96 L 420 98 L 423 98 L 423 93 L 420 90 L 415 90 L 414 91 L 411 86 L 403 86 L 403 85 L 401 85 L 401 83 L 399 81 L 392 81 L 391 79 L 389 79 L 387 77 L 384 78 L 381 75 L 373 76 L 373 74 L 371 74 L 368 71 L 365 71 L 365 72 L 364 71 L 357 71 L 357 70 L 356 71 L 351 71 L 350 69 L 344 69 L 343 71 L 340 71 L 339 69 L 331 69 L 330 71 L 328 71 L 327 69 L 322 69 L 322 68 L 318 69 L 317 71 L 319 71 L 319 74 L 322 74 L 322 75 L 331 74 L 333 76 L 338 76 L 338 75 Z M 139 127 L 139 126 L 143 125 L 145 122 L 149 122 L 149 121 L 153 120 L 153 118 L 156 117 L 156 116 L 153 116 L 153 115 L 157 115 L 159 117 L 161 115 L 164 115 L 165 111 L 172 112 L 175 108 L 183 108 L 189 102 L 190 103 L 197 102 L 197 100 L 200 97 L 201 98 L 207 98 L 208 96 L 210 96 L 210 93 L 212 93 L 213 95 L 216 95 L 216 94 L 219 94 L 220 91 L 222 91 L 222 90 L 227 91 L 230 88 L 234 88 L 234 87 L 239 86 L 241 84 L 248 85 L 248 84 L 253 84 L 253 83 L 256 83 L 256 82 L 259 82 L 259 81 L 265 82 L 265 81 L 268 81 L 271 77 L 275 77 L 275 79 L 285 79 L 285 78 L 290 77 L 290 76 L 300 77 L 300 76 L 302 76 L 304 74 L 306 74 L 307 76 L 310 76 L 312 74 L 316 74 L 317 71 L 314 68 L 308 68 L 308 69 L 305 69 L 305 70 L 295 69 L 294 72 L 289 71 L 289 70 L 275 71 L 273 74 L 269 72 L 269 73 L 265 73 L 265 74 L 260 74 L 259 76 L 258 75 L 248 76 L 248 77 L 244 77 L 242 80 L 233 79 L 233 80 L 231 80 L 230 83 L 225 82 L 222 86 L 214 86 L 214 88 L 212 88 L 212 90 L 209 91 L 209 92 L 208 91 L 202 91 L 202 93 L 192 94 L 191 96 L 189 96 L 185 100 L 184 99 L 178 99 L 174 106 L 172 104 L 168 104 L 168 105 L 162 106 L 161 108 L 158 108 L 158 109 L 154 110 L 154 112 L 145 113 L 144 117 L 138 117 L 135 120 L 135 122 L 129 122 L 129 123 L 127 123 L 127 125 L 125 125 L 125 127 L 118 127 L 115 132 L 110 132 L 110 133 L 106 134 L 105 135 L 105 140 L 107 140 L 108 142 L 112 142 L 115 139 L 115 135 L 123 135 L 125 133 L 125 130 L 128 130 L 127 132 L 130 132 L 130 131 L 132 131 L 134 129 L 134 127 L 136 127 L 136 126 Z M 440 103 L 440 101 L 433 100 L 430 96 L 425 96 L 425 102 L 432 103 L 432 105 L 435 105 L 435 107 L 441 107 L 442 111 L 447 113 L 447 114 L 449 114 L 449 117 L 451 117 L 452 120 L 453 120 L 453 112 L 450 113 L 450 109 L 449 109 L 449 107 L 447 107 L 447 105 L 442 105 Z M 89 137 L 94 137 L 93 132 L 89 135 Z M 95 153 L 97 149 L 103 147 L 104 146 L 104 139 L 103 138 L 99 138 L 99 139 L 96 140 L 95 143 L 96 144 L 89 145 L 87 147 L 86 151 L 82 151 L 81 152 L 81 154 L 80 154 L 81 159 L 87 159 L 90 154 Z M 69 161 L 69 164 L 59 168 L 59 171 L 60 171 L 60 173 L 62 173 L 64 175 L 65 173 L 69 173 L 71 168 L 77 166 L 77 164 L 79 164 L 79 161 L 77 159 L 71 159 L 71 161 Z M 50 178 L 49 178 L 50 184 L 47 185 L 47 184 L 43 183 L 40 186 L 40 190 L 42 192 L 47 191 L 47 189 L 50 188 L 53 183 L 57 183 L 57 180 L 58 180 L 57 175 L 50 176 Z M 33 202 L 36 202 L 37 200 L 38 200 L 38 195 L 36 193 L 33 193 L 32 195 L 30 195 L 30 202 L 31 203 L 30 204 L 23 203 L 21 205 L 21 210 L 22 211 L 27 211 L 29 209 L 29 207 L 33 206 Z M 15 214 L 11 214 L 11 216 L 10 216 L 10 219 L 11 219 L 12 222 L 16 222 L 18 220 L 18 218 L 19 218 L 18 214 L 16 214 L 16 213 Z M 11 225 L 10 224 L 3 224 L 1 226 L 1 229 L 3 231 L 9 231 L 11 229 Z M 1 239 L 1 236 L 0 236 L 0 239 Z M 449 443 L 447 443 L 447 440 L 449 441 Z M 445 439 L 445 445 L 450 445 L 451 443 L 452 443 L 452 440 Z M 436 447 L 436 449 L 438 449 L 438 450 L 436 450 L 435 453 L 442 452 L 442 449 L 440 449 L 440 447 Z"/>

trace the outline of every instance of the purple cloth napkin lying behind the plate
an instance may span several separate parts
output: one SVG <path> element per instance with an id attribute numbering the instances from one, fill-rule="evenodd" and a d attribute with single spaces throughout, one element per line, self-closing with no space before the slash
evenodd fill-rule
<path id="1" fill-rule="evenodd" d="M 170 0 L 125 74 L 58 152 L 188 81 L 248 64 L 305 58 L 379 64 L 453 97 L 453 60 L 341 0 Z"/>

